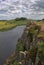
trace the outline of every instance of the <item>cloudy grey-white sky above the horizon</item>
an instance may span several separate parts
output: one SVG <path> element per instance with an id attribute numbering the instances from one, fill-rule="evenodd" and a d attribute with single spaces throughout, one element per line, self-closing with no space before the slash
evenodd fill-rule
<path id="1" fill-rule="evenodd" d="M 0 19 L 44 18 L 44 0 L 0 0 Z"/>

